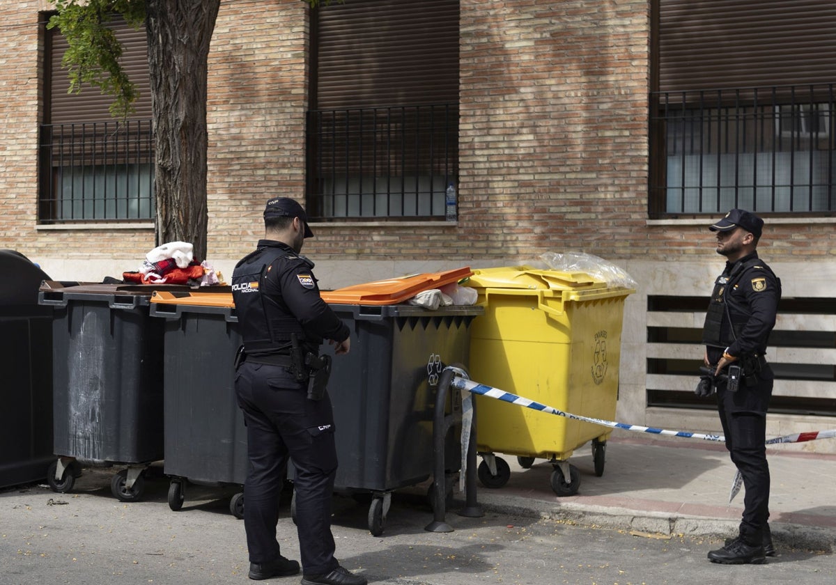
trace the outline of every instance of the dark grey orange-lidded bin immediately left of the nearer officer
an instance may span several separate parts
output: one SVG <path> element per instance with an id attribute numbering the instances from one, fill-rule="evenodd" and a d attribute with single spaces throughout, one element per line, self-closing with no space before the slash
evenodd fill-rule
<path id="1" fill-rule="evenodd" d="M 247 428 L 235 398 L 232 360 L 241 344 L 232 295 L 155 293 L 150 314 L 165 323 L 165 464 L 168 504 L 180 510 L 189 482 L 243 486 Z M 243 493 L 229 504 L 243 517 Z"/>

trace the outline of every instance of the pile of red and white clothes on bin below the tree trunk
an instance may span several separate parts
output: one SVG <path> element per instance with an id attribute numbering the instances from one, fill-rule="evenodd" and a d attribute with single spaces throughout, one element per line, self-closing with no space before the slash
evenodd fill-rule
<path id="1" fill-rule="evenodd" d="M 188 242 L 169 242 L 145 254 L 140 269 L 122 272 L 125 282 L 137 284 L 189 284 L 208 287 L 223 284 L 223 277 L 206 260 L 194 257 Z"/>

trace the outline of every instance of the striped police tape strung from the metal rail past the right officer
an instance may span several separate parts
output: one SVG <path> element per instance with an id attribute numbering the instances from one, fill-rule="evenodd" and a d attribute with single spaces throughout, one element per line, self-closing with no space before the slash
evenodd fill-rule
<path id="1" fill-rule="evenodd" d="M 541 412 L 545 412 L 549 415 L 558 415 L 563 416 L 568 419 L 572 420 L 582 420 L 584 422 L 593 423 L 594 425 L 602 425 L 607 426 L 612 429 L 621 429 L 621 430 L 632 430 L 636 432 L 642 433 L 651 433 L 653 435 L 669 435 L 675 437 L 683 437 L 686 439 L 701 439 L 701 440 L 709 440 L 709 441 L 716 441 L 716 442 L 725 442 L 726 437 L 723 435 L 709 435 L 706 433 L 691 433 L 684 430 L 665 430 L 665 429 L 655 429 L 654 427 L 648 426 L 641 426 L 641 425 L 625 425 L 624 423 L 614 422 L 612 420 L 603 420 L 603 419 L 594 419 L 589 416 L 581 416 L 581 415 L 573 415 L 569 412 L 563 412 L 563 410 L 558 410 L 548 406 L 546 404 L 540 404 L 533 400 L 529 400 L 527 398 L 523 398 L 522 396 L 518 396 L 517 394 L 512 394 L 510 392 L 506 392 L 505 390 L 501 390 L 498 388 L 493 388 L 492 386 L 486 386 L 485 384 L 479 384 L 478 382 L 474 382 L 471 379 L 466 378 L 466 373 L 458 368 L 451 368 L 456 374 L 452 381 L 451 387 L 459 390 L 461 392 L 461 399 L 462 404 L 467 404 L 466 410 L 472 410 L 471 403 L 469 402 L 470 396 L 469 393 L 472 394 L 481 394 L 482 396 L 488 396 L 490 398 L 494 398 L 497 400 L 502 400 L 503 402 L 508 402 L 510 404 L 517 404 L 517 406 L 523 406 L 525 408 L 539 410 Z M 470 429 L 470 420 L 467 421 L 467 429 L 469 432 Z M 462 429 L 464 431 L 464 429 Z M 464 433 L 462 432 L 462 447 L 463 450 L 466 450 L 464 445 Z M 818 440 L 818 439 L 830 439 L 836 437 L 836 429 L 833 430 L 817 430 L 808 433 L 794 433 L 793 435 L 783 435 L 781 437 L 775 437 L 773 439 L 767 440 L 767 445 L 777 445 L 777 444 L 787 444 L 787 443 L 803 443 L 808 440 Z M 737 471 L 737 475 L 732 481 L 732 490 L 729 494 L 729 503 L 732 503 L 732 500 L 735 496 L 737 496 L 737 492 L 740 491 L 742 486 L 742 476 L 740 471 Z"/>

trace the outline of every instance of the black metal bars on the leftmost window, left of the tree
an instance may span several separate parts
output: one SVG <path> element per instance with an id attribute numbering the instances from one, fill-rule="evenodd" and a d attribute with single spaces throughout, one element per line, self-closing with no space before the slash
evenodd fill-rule
<path id="1" fill-rule="evenodd" d="M 151 120 L 42 125 L 41 223 L 154 217 Z"/>

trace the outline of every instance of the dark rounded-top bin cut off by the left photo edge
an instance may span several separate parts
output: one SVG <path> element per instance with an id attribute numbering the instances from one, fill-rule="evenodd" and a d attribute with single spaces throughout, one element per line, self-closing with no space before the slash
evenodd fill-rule
<path id="1" fill-rule="evenodd" d="M 0 250 L 0 487 L 43 481 L 53 456 L 52 311 L 38 305 L 48 276 Z"/>

